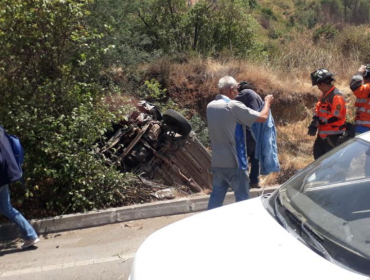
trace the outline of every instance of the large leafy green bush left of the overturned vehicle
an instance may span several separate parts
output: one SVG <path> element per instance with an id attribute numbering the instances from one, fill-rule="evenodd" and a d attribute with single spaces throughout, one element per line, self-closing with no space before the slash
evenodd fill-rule
<path id="1" fill-rule="evenodd" d="M 24 146 L 27 212 L 34 216 L 129 200 L 127 176 L 94 151 L 118 116 L 102 105 L 100 72 L 112 47 L 87 24 L 89 4 L 0 4 L 0 123 Z"/>

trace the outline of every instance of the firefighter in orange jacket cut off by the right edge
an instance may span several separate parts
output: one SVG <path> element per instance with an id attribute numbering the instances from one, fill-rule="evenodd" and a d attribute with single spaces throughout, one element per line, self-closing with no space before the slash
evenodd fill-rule
<path id="1" fill-rule="evenodd" d="M 352 77 L 350 88 L 357 97 L 356 134 L 370 130 L 370 64 L 361 65 L 356 75 Z"/>

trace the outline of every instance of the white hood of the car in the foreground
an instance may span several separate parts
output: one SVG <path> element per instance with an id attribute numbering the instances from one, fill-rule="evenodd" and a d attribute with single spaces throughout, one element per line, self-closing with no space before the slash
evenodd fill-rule
<path id="1" fill-rule="evenodd" d="M 186 218 L 139 248 L 131 280 L 369 279 L 320 257 L 282 228 L 261 198 Z"/>

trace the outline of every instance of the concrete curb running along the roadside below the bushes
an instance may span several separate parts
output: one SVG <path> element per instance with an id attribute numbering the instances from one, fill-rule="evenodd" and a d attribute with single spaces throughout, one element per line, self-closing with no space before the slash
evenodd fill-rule
<path id="1" fill-rule="evenodd" d="M 264 193 L 271 193 L 278 186 L 266 187 Z M 250 197 L 262 195 L 262 189 L 252 189 Z M 160 201 L 140 205 L 131 205 L 87 213 L 70 214 L 31 220 L 30 223 L 39 235 L 102 226 L 112 223 L 148 219 L 159 216 L 170 216 L 204 211 L 207 209 L 209 195 L 194 196 L 170 201 Z M 234 193 L 227 193 L 224 205 L 235 202 Z M 14 223 L 0 224 L 0 240 L 19 237 L 18 227 Z"/>

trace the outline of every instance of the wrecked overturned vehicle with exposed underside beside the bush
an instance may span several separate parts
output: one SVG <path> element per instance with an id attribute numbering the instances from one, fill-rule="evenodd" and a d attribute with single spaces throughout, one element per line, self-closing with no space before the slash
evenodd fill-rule
<path id="1" fill-rule="evenodd" d="M 142 101 L 113 127 L 99 150 L 108 164 L 156 186 L 185 187 L 191 193 L 211 189 L 211 155 L 179 112 L 161 114 Z"/>

